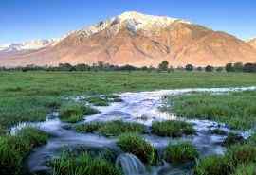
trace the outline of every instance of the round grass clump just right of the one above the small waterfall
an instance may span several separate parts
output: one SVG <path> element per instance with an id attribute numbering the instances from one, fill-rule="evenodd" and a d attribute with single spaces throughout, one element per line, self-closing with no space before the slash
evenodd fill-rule
<path id="1" fill-rule="evenodd" d="M 198 156 L 197 149 L 189 142 L 169 144 L 164 150 L 164 159 L 170 163 L 186 163 L 194 161 Z"/>

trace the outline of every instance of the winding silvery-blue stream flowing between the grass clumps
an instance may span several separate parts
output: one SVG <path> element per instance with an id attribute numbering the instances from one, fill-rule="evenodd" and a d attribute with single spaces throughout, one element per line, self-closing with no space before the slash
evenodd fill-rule
<path id="1" fill-rule="evenodd" d="M 139 93 L 123 93 L 119 96 L 122 102 L 112 103 L 107 107 L 96 107 L 101 111 L 100 114 L 94 114 L 84 117 L 83 122 L 91 121 L 110 121 L 110 120 L 124 120 L 129 122 L 138 122 L 146 126 L 151 126 L 153 121 L 159 120 L 174 120 L 182 119 L 177 118 L 174 114 L 168 114 L 161 112 L 159 107 L 163 105 L 162 96 L 178 96 L 184 93 L 191 92 L 211 92 L 211 93 L 225 93 L 229 91 L 246 91 L 256 90 L 256 87 L 246 88 L 197 88 L 197 89 L 180 89 L 180 90 L 161 90 L 153 92 L 139 92 Z M 79 98 L 76 98 L 79 100 Z M 226 136 L 214 135 L 210 133 L 210 129 L 218 128 L 225 131 L 229 129 L 224 124 L 218 124 L 216 122 L 208 120 L 186 120 L 193 124 L 197 134 L 192 136 L 186 136 L 179 139 L 169 137 L 158 137 L 151 134 L 143 135 L 144 138 L 150 142 L 156 149 L 163 149 L 169 143 L 174 143 L 180 139 L 191 141 L 192 144 L 199 150 L 201 156 L 207 156 L 210 154 L 223 154 L 225 148 L 221 146 L 221 142 Z M 77 148 L 79 146 L 93 149 L 118 149 L 116 146 L 116 138 L 107 138 L 99 136 L 97 134 L 82 134 L 72 130 L 66 130 L 66 123 L 58 119 L 58 114 L 49 114 L 45 122 L 39 123 L 21 123 L 11 129 L 11 133 L 14 134 L 21 128 L 27 125 L 32 125 L 39 128 L 42 131 L 54 135 L 48 143 L 30 154 L 27 159 L 27 166 L 31 172 L 46 171 L 49 170 L 46 166 L 48 160 L 54 156 L 58 156 L 64 148 Z M 248 137 L 250 131 L 236 131 L 242 136 Z M 123 168 L 126 175 L 178 175 L 186 174 L 189 170 L 183 166 L 172 166 L 167 163 L 163 163 L 161 166 L 155 166 L 151 168 L 145 168 L 145 166 L 137 160 L 137 157 L 131 154 L 121 154 L 117 160 Z M 137 174 L 136 174 L 137 173 Z"/>

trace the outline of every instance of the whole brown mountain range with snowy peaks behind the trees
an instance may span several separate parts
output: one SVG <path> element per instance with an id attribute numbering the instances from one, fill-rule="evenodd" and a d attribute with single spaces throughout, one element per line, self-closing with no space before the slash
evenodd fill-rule
<path id="1" fill-rule="evenodd" d="M 0 46 L 0 66 L 68 62 L 173 66 L 256 62 L 256 40 L 245 42 L 188 21 L 125 12 L 58 40 Z"/>

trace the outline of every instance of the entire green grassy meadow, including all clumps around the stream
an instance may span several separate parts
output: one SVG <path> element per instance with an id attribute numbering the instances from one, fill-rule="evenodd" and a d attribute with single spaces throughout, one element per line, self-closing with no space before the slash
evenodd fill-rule
<path id="1" fill-rule="evenodd" d="M 73 104 L 68 100 L 70 96 L 89 96 L 87 102 L 107 106 L 111 100 L 119 101 L 119 96 L 113 94 L 121 92 L 240 86 L 256 86 L 256 75 L 196 71 L 0 72 L 0 173 L 26 174 L 23 162 L 29 152 L 45 145 L 51 137 L 33 128 L 24 129 L 11 136 L 8 133 L 9 127 L 22 121 L 44 121 L 46 114 L 53 110 L 60 111 L 60 119 L 67 123 L 76 123 L 84 115 L 99 113 L 86 106 L 85 102 Z M 233 129 L 247 130 L 256 123 L 255 96 L 256 92 L 170 96 L 167 102 L 171 106 L 166 110 L 172 110 L 182 117 L 210 119 L 226 123 Z M 72 129 L 83 133 L 116 136 L 117 146 L 123 152 L 137 155 L 147 165 L 158 163 L 157 150 L 141 136 L 145 131 L 142 125 L 114 121 L 77 125 Z M 196 134 L 190 124 L 177 121 L 155 122 L 151 133 L 167 137 Z M 178 143 L 164 149 L 163 158 L 175 164 L 192 161 L 195 165 L 193 173 L 198 175 L 217 175 L 219 172 L 242 175 L 244 171 L 253 175 L 256 163 L 254 137 L 243 143 L 230 142 L 224 156 L 199 159 L 198 152 L 191 143 Z M 49 166 L 56 175 L 122 174 L 113 161 L 102 156 L 93 157 L 87 152 L 80 156 L 64 154 L 53 160 Z"/>

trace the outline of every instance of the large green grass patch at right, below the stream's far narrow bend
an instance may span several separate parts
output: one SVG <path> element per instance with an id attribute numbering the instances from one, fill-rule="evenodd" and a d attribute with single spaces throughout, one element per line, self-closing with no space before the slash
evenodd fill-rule
<path id="1" fill-rule="evenodd" d="M 194 93 L 169 98 L 175 114 L 188 118 L 210 119 L 226 123 L 232 129 L 247 130 L 256 124 L 256 91 L 224 95 Z"/>

